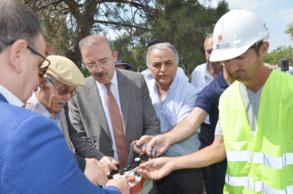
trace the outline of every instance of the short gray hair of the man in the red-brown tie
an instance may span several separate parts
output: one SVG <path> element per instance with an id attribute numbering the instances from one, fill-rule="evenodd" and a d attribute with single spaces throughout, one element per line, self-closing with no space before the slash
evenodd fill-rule
<path id="1" fill-rule="evenodd" d="M 84 39 L 82 39 L 80 42 L 79 42 L 79 48 L 81 50 L 81 53 L 82 53 L 82 49 L 84 47 L 87 47 L 87 48 L 91 48 L 93 46 L 96 46 L 102 42 L 106 41 L 110 47 L 110 50 L 112 51 L 112 53 L 115 52 L 115 48 L 114 48 L 114 45 L 113 43 L 107 39 L 106 37 L 102 36 L 102 35 L 90 35 L 88 37 L 85 37 Z M 82 53 L 83 55 L 83 53 Z"/>

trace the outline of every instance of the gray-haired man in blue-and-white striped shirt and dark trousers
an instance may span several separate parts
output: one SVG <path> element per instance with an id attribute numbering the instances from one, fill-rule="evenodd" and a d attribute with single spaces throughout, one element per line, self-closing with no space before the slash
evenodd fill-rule
<path id="1" fill-rule="evenodd" d="M 169 131 L 184 120 L 195 106 L 196 90 L 188 82 L 178 78 L 176 71 L 179 57 L 170 43 L 158 43 L 147 49 L 146 64 L 154 79 L 147 82 L 149 95 L 161 122 L 161 133 Z M 169 146 L 166 157 L 188 155 L 198 151 L 199 130 L 187 139 Z M 180 169 L 156 181 L 159 194 L 202 194 L 201 169 Z"/>

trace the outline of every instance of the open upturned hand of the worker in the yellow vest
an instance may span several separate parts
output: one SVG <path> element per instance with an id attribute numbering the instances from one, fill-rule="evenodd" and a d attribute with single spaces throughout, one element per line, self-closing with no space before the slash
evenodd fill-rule
<path id="1" fill-rule="evenodd" d="M 140 164 L 143 169 L 137 169 L 136 171 L 148 179 L 159 180 L 174 170 L 172 160 L 172 157 L 154 158 Z"/>

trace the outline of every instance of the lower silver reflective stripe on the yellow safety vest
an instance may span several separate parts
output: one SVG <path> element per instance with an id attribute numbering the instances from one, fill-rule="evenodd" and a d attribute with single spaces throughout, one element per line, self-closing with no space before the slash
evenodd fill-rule
<path id="1" fill-rule="evenodd" d="M 247 187 L 253 191 L 253 179 L 248 176 L 233 177 L 226 174 L 225 181 L 234 187 Z M 293 185 L 283 190 L 276 190 L 266 185 L 263 181 L 255 181 L 255 192 L 264 194 L 293 194 Z"/>

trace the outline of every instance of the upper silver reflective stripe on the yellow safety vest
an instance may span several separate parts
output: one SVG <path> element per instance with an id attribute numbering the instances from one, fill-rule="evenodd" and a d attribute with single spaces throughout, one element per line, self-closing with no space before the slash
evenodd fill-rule
<path id="1" fill-rule="evenodd" d="M 227 161 L 232 162 L 244 162 L 252 161 L 252 152 L 249 150 L 245 151 L 226 151 Z M 293 164 L 293 153 L 285 153 L 281 157 L 272 155 L 266 155 L 261 152 L 253 153 L 254 164 L 264 164 L 274 169 L 283 169 L 284 166 Z"/>

